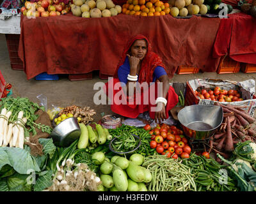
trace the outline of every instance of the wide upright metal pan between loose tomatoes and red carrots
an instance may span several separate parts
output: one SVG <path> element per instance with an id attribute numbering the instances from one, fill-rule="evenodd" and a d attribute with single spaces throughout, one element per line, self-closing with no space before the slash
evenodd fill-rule
<path id="1" fill-rule="evenodd" d="M 178 119 L 189 138 L 205 140 L 221 125 L 223 110 L 214 105 L 191 105 L 180 110 Z"/>

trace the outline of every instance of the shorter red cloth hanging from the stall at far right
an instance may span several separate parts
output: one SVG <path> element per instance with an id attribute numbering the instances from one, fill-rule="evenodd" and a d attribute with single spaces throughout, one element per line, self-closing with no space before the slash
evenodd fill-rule
<path id="1" fill-rule="evenodd" d="M 221 19 L 213 57 L 229 55 L 238 62 L 256 64 L 256 19 L 245 13 L 234 13 Z"/>

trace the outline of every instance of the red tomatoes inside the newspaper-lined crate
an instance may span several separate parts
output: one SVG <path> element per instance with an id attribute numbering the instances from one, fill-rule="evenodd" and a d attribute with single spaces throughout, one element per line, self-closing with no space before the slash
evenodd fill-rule
<path id="1" fill-rule="evenodd" d="M 212 101 L 220 101 L 220 102 L 233 102 L 233 101 L 243 101 L 240 94 L 236 90 L 225 90 L 220 89 L 220 87 L 215 87 L 214 90 L 207 91 L 206 89 L 202 89 L 201 92 L 195 91 L 196 96 L 200 99 L 208 99 Z"/>

